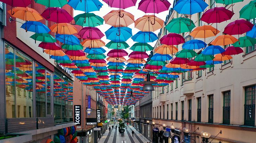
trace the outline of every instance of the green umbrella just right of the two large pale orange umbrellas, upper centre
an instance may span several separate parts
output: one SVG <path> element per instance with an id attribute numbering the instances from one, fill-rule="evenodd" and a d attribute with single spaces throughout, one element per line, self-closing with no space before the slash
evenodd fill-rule
<path id="1" fill-rule="evenodd" d="M 196 26 L 193 21 L 191 21 L 191 25 L 190 25 L 190 19 L 179 17 L 179 18 L 172 19 L 166 25 L 165 28 L 171 33 L 180 34 L 180 33 L 184 33 L 184 32 L 189 32 L 195 27 Z"/>

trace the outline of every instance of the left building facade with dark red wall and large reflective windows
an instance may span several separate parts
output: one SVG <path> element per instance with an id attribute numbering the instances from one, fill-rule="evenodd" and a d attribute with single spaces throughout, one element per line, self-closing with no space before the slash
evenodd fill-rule
<path id="1" fill-rule="evenodd" d="M 0 3 L 1 41 L 1 134 L 19 133 L 25 137 L 11 142 L 45 142 L 59 129 L 73 123 L 73 81 L 70 70 L 43 53 L 31 35 L 20 28 L 24 21 L 10 18 L 11 6 Z M 42 13 L 46 7 L 34 1 L 28 7 Z M 69 5 L 63 7 L 73 15 Z M 40 22 L 50 27 L 53 22 Z"/>

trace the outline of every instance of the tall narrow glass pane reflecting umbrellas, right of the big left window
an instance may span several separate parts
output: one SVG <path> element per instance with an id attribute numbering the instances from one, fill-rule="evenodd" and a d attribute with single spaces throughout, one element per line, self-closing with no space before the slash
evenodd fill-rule
<path id="1" fill-rule="evenodd" d="M 45 68 L 35 63 L 36 69 L 36 117 L 46 117 Z"/>

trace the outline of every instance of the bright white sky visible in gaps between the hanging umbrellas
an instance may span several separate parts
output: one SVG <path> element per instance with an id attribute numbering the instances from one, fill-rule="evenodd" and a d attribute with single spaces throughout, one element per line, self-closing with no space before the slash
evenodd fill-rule
<path id="1" fill-rule="evenodd" d="M 171 3 L 171 7 L 170 7 L 170 8 L 172 8 L 172 7 L 173 7 L 173 0 L 168 0 L 168 1 Z M 102 0 L 100 0 L 100 2 L 103 4 L 103 6 L 102 6 L 102 8 L 100 9 L 100 11 L 95 11 L 95 12 L 91 12 L 91 13 L 94 13 L 94 14 L 96 14 L 96 15 L 98 15 L 98 16 L 101 16 L 101 17 L 103 18 L 103 16 L 106 15 L 107 13 L 109 13 L 110 11 L 112 11 L 112 10 L 118 10 L 118 8 L 111 8 L 111 7 L 109 7 L 108 4 L 105 3 L 105 2 L 103 2 Z M 125 11 L 127 11 L 127 12 L 131 13 L 132 15 L 134 15 L 134 19 L 135 19 L 135 20 L 138 19 L 139 17 L 142 17 L 142 16 L 145 15 L 144 12 L 138 10 L 139 2 L 140 2 L 140 0 L 137 1 L 136 6 L 132 6 L 132 7 L 130 7 L 130 8 L 125 9 Z M 81 13 L 84 13 L 84 12 L 83 12 L 83 11 L 74 10 L 74 16 L 76 16 L 76 15 L 78 15 L 78 14 L 81 14 Z M 161 12 L 161 13 L 155 14 L 155 15 L 165 21 L 166 15 L 168 15 L 168 13 L 169 13 L 169 11 L 164 11 L 164 12 Z M 147 15 L 150 15 L 150 14 L 152 14 L 152 13 L 147 13 Z M 105 22 L 104 22 L 103 25 L 97 26 L 97 28 L 99 28 L 104 34 L 105 34 L 105 31 L 107 31 L 110 27 L 111 27 L 111 26 L 105 24 Z M 132 29 L 132 35 L 134 35 L 134 34 L 136 34 L 137 32 L 140 31 L 140 30 L 134 28 L 134 24 L 131 24 L 131 25 L 128 26 L 128 27 Z M 159 31 L 160 31 L 160 30 L 154 31 L 154 33 L 155 33 L 156 35 L 158 35 Z M 110 41 L 110 40 L 106 39 L 106 36 L 104 36 L 104 37 L 102 38 L 102 40 L 103 40 L 106 44 Z M 131 38 L 128 39 L 126 42 L 129 44 L 129 46 L 132 46 L 134 43 L 136 43 L 136 42 L 133 42 L 133 40 L 132 40 Z M 156 41 L 153 42 L 153 43 L 149 43 L 149 44 L 150 44 L 151 46 L 154 46 L 155 43 L 156 43 Z M 111 50 L 111 49 L 108 49 L 107 47 L 103 47 L 103 48 L 107 51 L 105 54 L 107 54 L 108 51 Z M 128 54 L 132 52 L 132 51 L 131 51 L 130 49 L 128 49 L 128 48 L 127 48 L 125 51 L 126 51 Z M 150 51 L 147 52 L 147 53 L 149 54 Z M 126 56 L 125 58 L 128 59 L 128 56 Z"/>

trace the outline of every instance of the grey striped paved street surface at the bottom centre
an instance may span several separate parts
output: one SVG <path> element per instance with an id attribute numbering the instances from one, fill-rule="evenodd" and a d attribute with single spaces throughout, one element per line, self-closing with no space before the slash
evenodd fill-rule
<path id="1" fill-rule="evenodd" d="M 114 125 L 111 124 L 110 127 Z M 127 126 L 125 129 L 124 136 L 121 136 L 121 133 L 118 132 L 118 124 L 115 124 L 114 127 L 117 125 L 117 129 L 111 128 L 111 131 L 108 130 L 103 134 L 101 139 L 98 143 L 147 143 L 150 142 L 146 137 L 144 137 L 141 133 L 136 131 L 135 128 L 132 126 Z M 132 137 L 131 131 L 134 131 L 134 136 Z"/>

